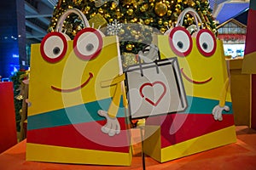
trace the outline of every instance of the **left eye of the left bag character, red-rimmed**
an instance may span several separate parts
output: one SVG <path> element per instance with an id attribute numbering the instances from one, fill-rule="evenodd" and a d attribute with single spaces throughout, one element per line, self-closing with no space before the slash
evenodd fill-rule
<path id="1" fill-rule="evenodd" d="M 67 52 L 67 40 L 61 32 L 50 32 L 42 40 L 40 51 L 49 63 L 60 61 Z"/>

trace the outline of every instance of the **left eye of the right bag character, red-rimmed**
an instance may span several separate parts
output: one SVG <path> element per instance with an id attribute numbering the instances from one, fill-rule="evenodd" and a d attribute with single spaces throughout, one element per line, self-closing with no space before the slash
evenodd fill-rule
<path id="1" fill-rule="evenodd" d="M 175 54 L 178 56 L 187 56 L 192 50 L 192 38 L 182 26 L 172 29 L 169 35 L 169 43 Z"/>

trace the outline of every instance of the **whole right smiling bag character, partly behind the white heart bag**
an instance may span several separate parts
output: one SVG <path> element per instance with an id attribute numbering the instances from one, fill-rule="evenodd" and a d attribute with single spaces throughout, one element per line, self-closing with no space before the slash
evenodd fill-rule
<path id="1" fill-rule="evenodd" d="M 197 24 L 192 36 L 182 27 L 185 14 Z M 177 26 L 158 36 L 160 57 L 177 57 L 188 101 L 185 111 L 146 121 L 144 152 L 160 162 L 236 142 L 222 42 L 200 22 L 195 10 L 186 8 Z"/>

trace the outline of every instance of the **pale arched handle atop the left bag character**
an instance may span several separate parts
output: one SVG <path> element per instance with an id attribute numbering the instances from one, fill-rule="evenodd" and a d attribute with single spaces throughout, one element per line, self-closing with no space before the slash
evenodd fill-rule
<path id="1" fill-rule="evenodd" d="M 81 18 L 84 23 L 85 27 L 90 27 L 89 21 L 87 20 L 86 16 L 78 9 L 78 8 L 69 8 L 63 14 L 61 14 L 60 19 L 57 22 L 57 26 L 55 27 L 55 31 L 61 32 L 62 25 L 64 20 L 66 20 L 69 14 L 77 14 Z"/>

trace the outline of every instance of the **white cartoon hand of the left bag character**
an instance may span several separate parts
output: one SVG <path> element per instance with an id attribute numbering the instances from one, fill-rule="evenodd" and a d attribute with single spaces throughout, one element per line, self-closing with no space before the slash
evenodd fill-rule
<path id="1" fill-rule="evenodd" d="M 103 133 L 108 133 L 109 136 L 120 133 L 120 125 L 116 117 L 109 117 L 108 111 L 99 110 L 98 114 L 99 116 L 104 116 L 107 119 L 107 123 L 102 127 Z"/>

